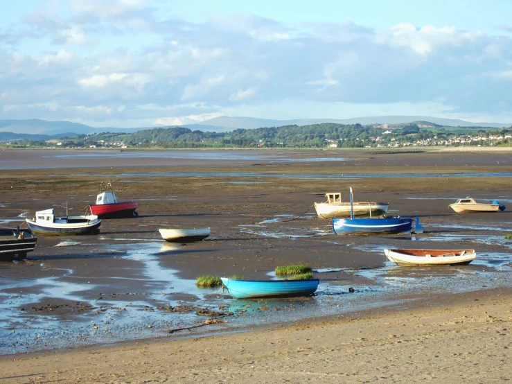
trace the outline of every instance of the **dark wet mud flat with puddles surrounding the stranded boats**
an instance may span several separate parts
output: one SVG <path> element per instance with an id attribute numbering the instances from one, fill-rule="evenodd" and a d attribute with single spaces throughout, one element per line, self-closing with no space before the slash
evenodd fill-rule
<path id="1" fill-rule="evenodd" d="M 303 153 L 288 156 L 299 159 Z M 405 166 L 412 167 L 407 173 L 426 173 L 434 162 L 443 171 L 460 173 L 467 172 L 468 157 L 446 154 L 450 157 L 443 162 L 439 155 L 425 153 L 382 154 L 379 159 L 367 152 L 306 155 L 322 160 L 276 164 L 275 159 L 258 159 L 257 164 L 265 173 L 281 175 L 348 173 L 361 163 L 372 173 L 400 172 Z M 414 306 L 425 298 L 435 301 L 436 295 L 511 288 L 512 240 L 504 238 L 512 228 L 510 178 L 177 178 L 158 173 L 177 168 L 186 173 L 246 172 L 256 164 L 254 159 L 195 159 L 191 165 L 177 159 L 176 166 L 174 159 L 166 166 L 147 161 L 145 157 L 139 166 L 112 171 L 111 162 L 94 160 L 80 175 L 70 168 L 2 173 L 2 226 L 19 224 L 50 207 L 65 213 L 67 205 L 70 214 L 82 213 L 104 180 L 97 175 L 112 180 L 120 200 L 139 202 L 138 218 L 105 219 L 96 236 L 39 236 L 27 261 L 0 263 L 2 354 L 222 333 Z M 379 167 L 379 162 L 394 165 Z M 504 162 L 499 171 L 511 172 L 501 154 L 484 154 L 473 168 L 497 172 L 493 162 Z M 141 168 L 157 175 L 140 176 Z M 138 175 L 130 176 L 134 173 Z M 335 236 L 330 221 L 317 218 L 312 204 L 323 201 L 326 192 L 339 191 L 348 198 L 348 186 L 356 200 L 389 202 L 389 214 L 419 216 L 425 232 Z M 507 209 L 464 216 L 448 209 L 466 195 L 500 200 Z M 209 227 L 211 236 L 199 243 L 166 243 L 157 232 L 166 227 Z M 400 268 L 386 261 L 383 250 L 389 247 L 474 248 L 477 260 L 457 268 Z M 220 288 L 195 286 L 196 277 L 206 274 L 271 279 L 276 266 L 291 263 L 312 266 L 321 279 L 315 295 L 236 300 Z"/>

